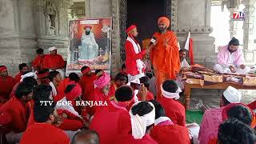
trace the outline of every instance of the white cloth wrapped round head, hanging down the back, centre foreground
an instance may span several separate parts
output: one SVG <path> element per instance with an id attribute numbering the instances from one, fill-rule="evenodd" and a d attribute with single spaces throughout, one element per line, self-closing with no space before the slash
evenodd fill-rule
<path id="1" fill-rule="evenodd" d="M 140 102 L 134 103 L 133 106 L 138 105 Z M 143 116 L 139 116 L 138 114 L 134 115 L 132 114 L 132 109 L 130 109 L 130 122 L 131 122 L 131 129 L 132 129 L 132 135 L 135 139 L 141 139 L 146 134 L 146 126 L 150 126 L 154 124 L 154 105 L 151 102 L 150 106 L 153 107 L 153 110 L 150 111 L 149 114 L 145 114 Z"/>

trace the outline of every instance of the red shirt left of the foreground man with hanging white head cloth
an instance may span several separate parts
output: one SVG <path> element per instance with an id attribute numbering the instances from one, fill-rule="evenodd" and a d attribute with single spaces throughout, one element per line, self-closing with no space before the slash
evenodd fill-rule
<path id="1" fill-rule="evenodd" d="M 113 102 L 110 102 L 109 106 L 94 114 L 89 128 L 97 131 L 100 138 L 99 143 L 114 143 L 121 134 L 131 132 L 130 115 L 126 108 L 113 105 Z"/>

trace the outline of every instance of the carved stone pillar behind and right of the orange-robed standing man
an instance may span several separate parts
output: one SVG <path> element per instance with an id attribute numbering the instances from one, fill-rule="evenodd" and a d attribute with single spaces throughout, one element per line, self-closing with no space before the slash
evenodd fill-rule
<path id="1" fill-rule="evenodd" d="M 190 30 L 194 39 L 194 62 L 213 68 L 216 62 L 214 38 L 209 34 L 211 0 L 172 0 L 171 29 L 178 36 L 180 46 L 185 46 Z"/>

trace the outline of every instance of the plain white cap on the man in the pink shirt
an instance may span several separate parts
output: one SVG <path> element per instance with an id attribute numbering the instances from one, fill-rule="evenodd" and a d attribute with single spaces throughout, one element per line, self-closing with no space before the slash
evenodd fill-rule
<path id="1" fill-rule="evenodd" d="M 223 95 L 230 103 L 239 103 L 242 98 L 242 93 L 233 86 L 228 86 Z"/>

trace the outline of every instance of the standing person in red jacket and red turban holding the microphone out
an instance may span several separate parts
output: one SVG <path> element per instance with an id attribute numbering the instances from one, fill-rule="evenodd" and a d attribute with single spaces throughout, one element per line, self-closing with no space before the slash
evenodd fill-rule
<path id="1" fill-rule="evenodd" d="M 126 33 L 128 34 L 125 43 L 126 73 L 128 82 L 130 82 L 131 79 L 141 78 L 145 75 L 146 65 L 142 62 L 142 58 L 146 54 L 146 50 L 142 50 L 135 39 L 138 36 L 137 26 L 131 25 L 126 29 Z"/>

